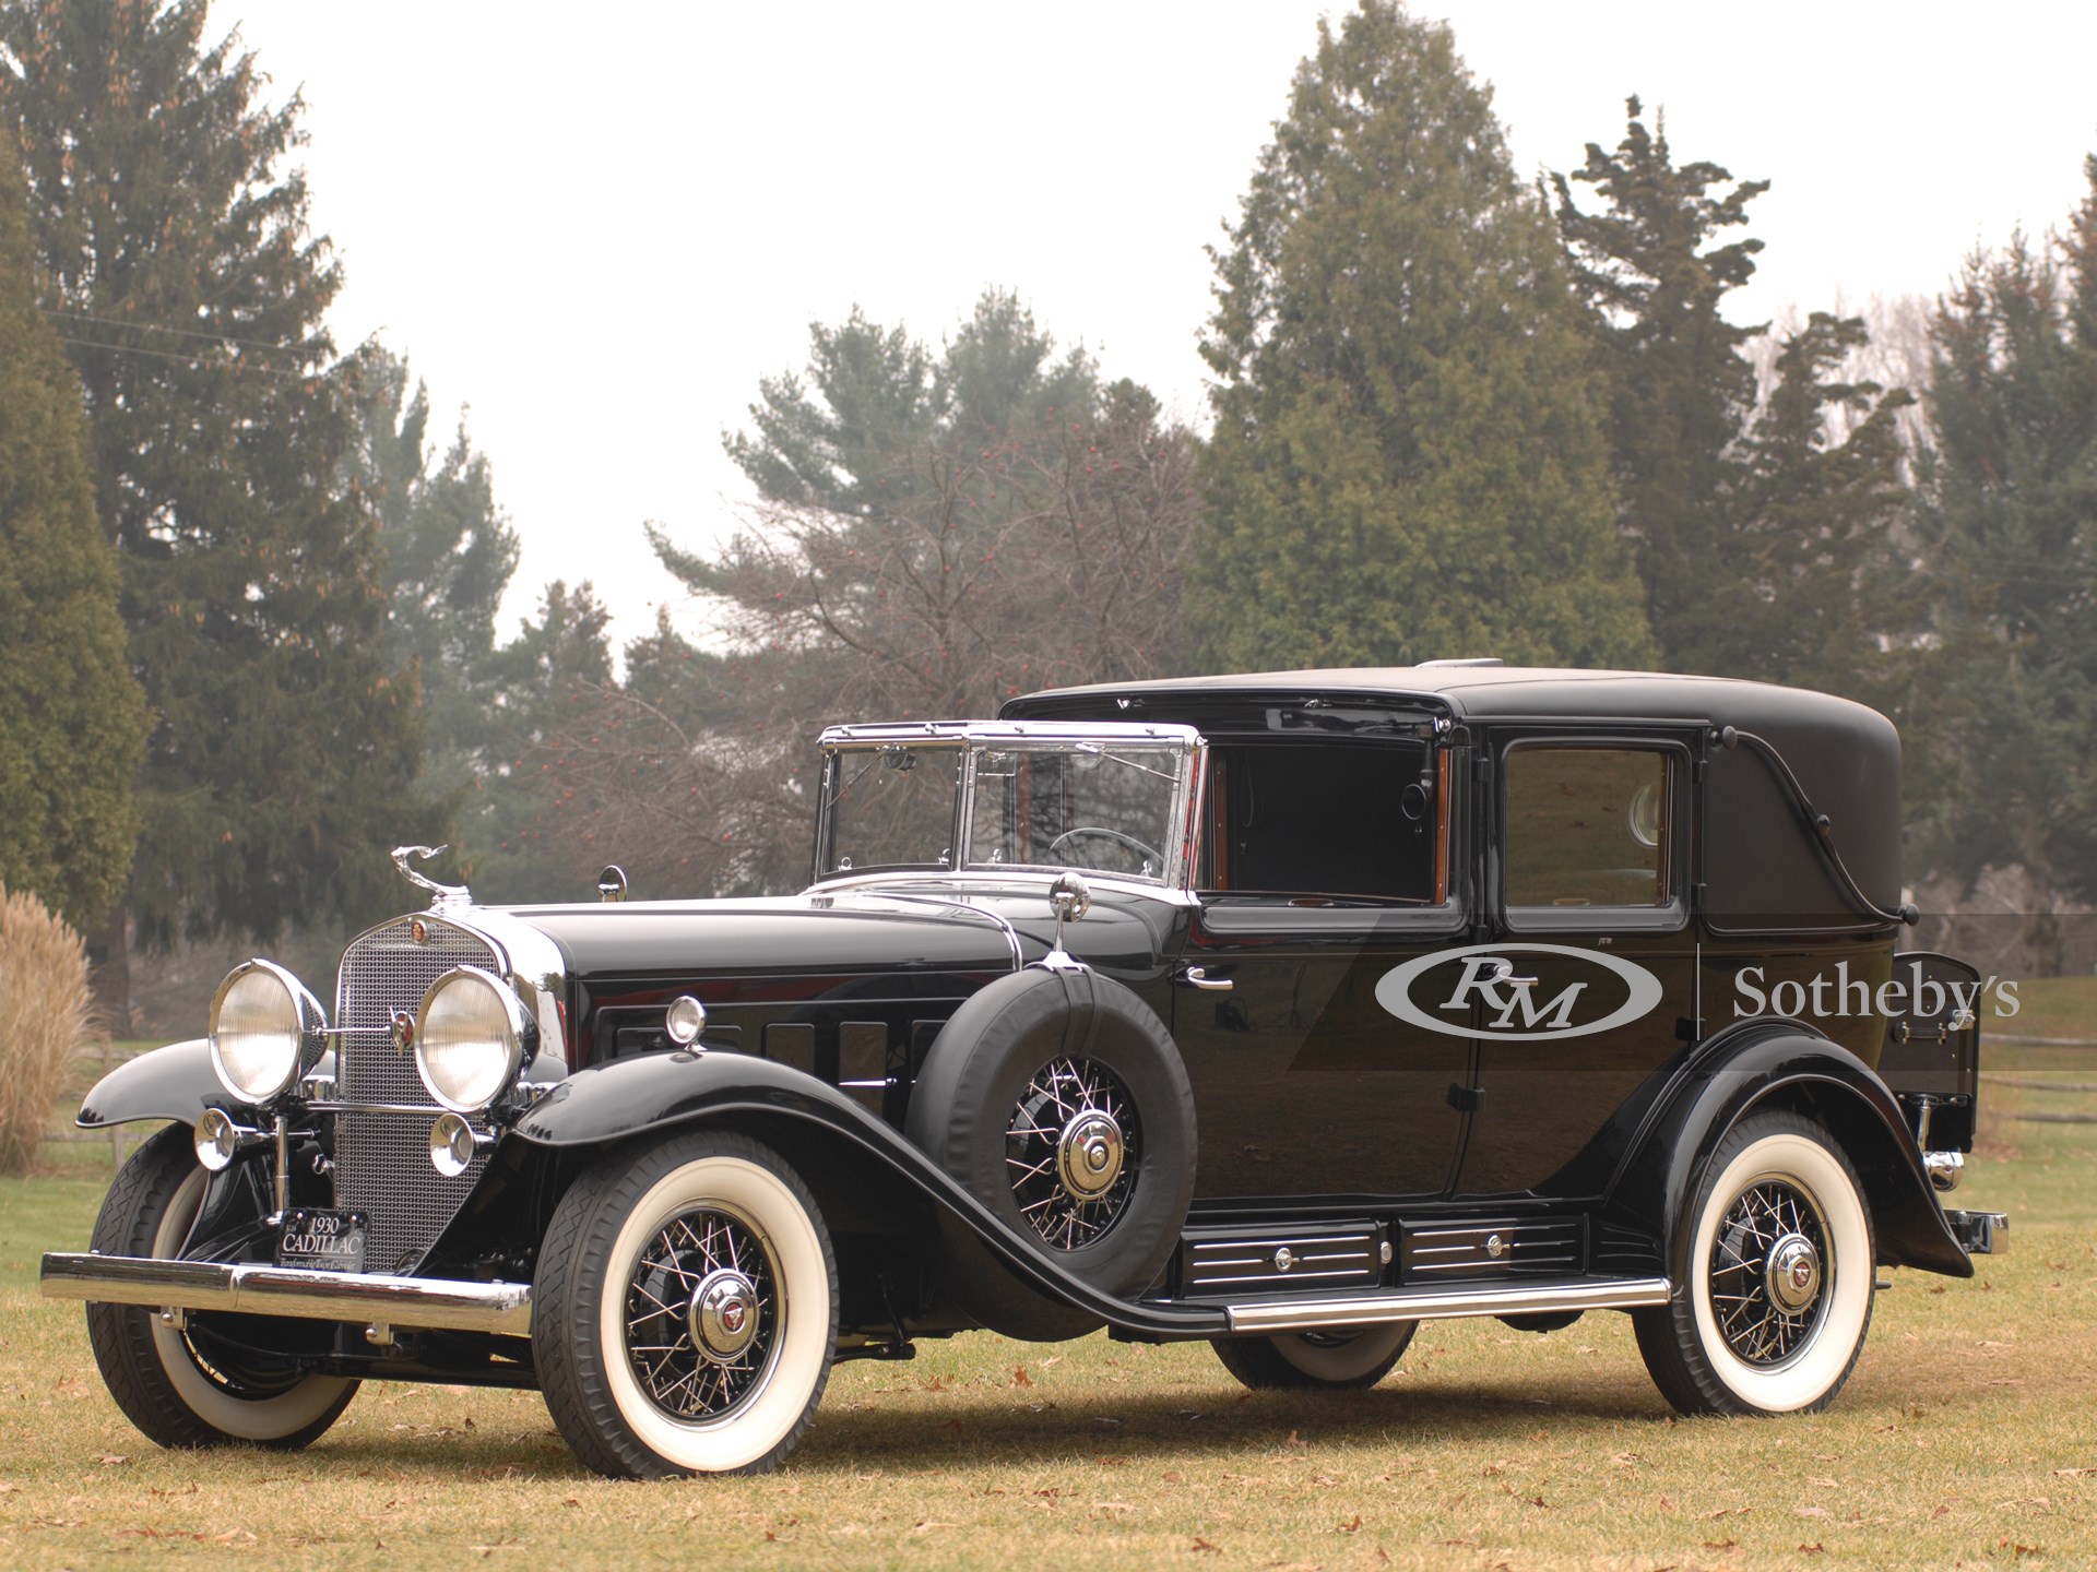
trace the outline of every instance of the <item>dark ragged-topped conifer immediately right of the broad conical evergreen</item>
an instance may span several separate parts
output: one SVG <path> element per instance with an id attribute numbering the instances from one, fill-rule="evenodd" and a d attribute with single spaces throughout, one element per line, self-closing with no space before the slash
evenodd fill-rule
<path id="1" fill-rule="evenodd" d="M 1770 182 L 1709 161 L 1678 166 L 1665 119 L 1648 130 L 1638 99 L 1625 119 L 1615 151 L 1590 143 L 1587 161 L 1552 187 L 1608 390 L 1617 518 L 1638 551 L 1661 658 L 1682 667 L 1709 633 L 1724 509 L 1741 484 L 1734 444 L 1755 413 L 1743 350 L 1761 329 L 1720 308 L 1753 277 L 1761 241 L 1722 237 L 1747 224 L 1747 203 Z M 1573 182 L 1594 187 L 1602 208 L 1583 212 Z"/>

